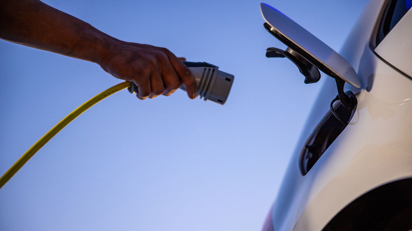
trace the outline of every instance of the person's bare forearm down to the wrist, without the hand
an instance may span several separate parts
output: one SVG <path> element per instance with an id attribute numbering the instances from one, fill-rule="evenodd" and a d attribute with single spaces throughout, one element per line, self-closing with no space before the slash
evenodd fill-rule
<path id="1" fill-rule="evenodd" d="M 117 40 L 38 0 L 0 0 L 2 39 L 99 63 Z"/>

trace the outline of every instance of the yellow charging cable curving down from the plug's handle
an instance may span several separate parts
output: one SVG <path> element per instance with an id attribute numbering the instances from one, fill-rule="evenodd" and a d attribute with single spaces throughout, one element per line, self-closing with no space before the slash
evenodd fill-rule
<path id="1" fill-rule="evenodd" d="M 16 174 L 17 171 L 21 169 L 21 167 L 26 164 L 26 162 L 33 157 L 33 155 L 40 149 L 42 148 L 50 139 L 53 138 L 58 132 L 63 129 L 63 127 L 66 127 L 70 122 L 72 122 L 77 116 L 80 116 L 84 111 L 87 109 L 91 108 L 94 104 L 97 104 L 100 102 L 102 99 L 108 97 L 109 95 L 112 95 L 120 90 L 123 90 L 124 88 L 130 88 L 131 83 L 130 82 L 123 82 L 119 83 L 115 86 L 112 86 L 111 88 L 101 92 L 100 94 L 96 95 L 95 97 L 89 99 L 87 102 L 84 104 L 80 105 L 77 109 L 72 111 L 70 114 L 68 114 L 63 120 L 61 120 L 58 124 L 56 124 L 52 129 L 49 130 L 42 138 L 40 138 L 31 148 L 27 150 L 26 153 L 24 153 L 20 159 L 16 161 L 16 163 L 13 164 L 13 166 L 7 170 L 6 173 L 3 174 L 3 176 L 0 178 L 0 189 L 5 185 L 7 181 L 10 180 Z"/>

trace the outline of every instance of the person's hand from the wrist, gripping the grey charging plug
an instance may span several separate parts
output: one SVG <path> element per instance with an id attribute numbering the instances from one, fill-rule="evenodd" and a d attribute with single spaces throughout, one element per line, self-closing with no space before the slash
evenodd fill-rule
<path id="1" fill-rule="evenodd" d="M 180 59 L 166 48 L 117 40 L 98 64 L 112 76 L 135 83 L 139 99 L 169 96 L 182 84 L 194 99 L 196 82 Z"/>

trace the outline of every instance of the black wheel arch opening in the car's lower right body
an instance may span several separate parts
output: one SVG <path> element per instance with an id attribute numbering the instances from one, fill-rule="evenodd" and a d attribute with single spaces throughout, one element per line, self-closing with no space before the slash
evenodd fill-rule
<path id="1" fill-rule="evenodd" d="M 412 229 L 412 178 L 363 194 L 343 208 L 323 231 L 408 231 Z"/>

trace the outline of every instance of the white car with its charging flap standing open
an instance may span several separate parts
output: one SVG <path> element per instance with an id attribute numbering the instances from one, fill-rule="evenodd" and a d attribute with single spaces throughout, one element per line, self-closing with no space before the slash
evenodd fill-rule
<path id="1" fill-rule="evenodd" d="M 261 4 L 265 28 L 288 46 L 267 57 L 289 58 L 305 83 L 318 69 L 327 79 L 263 231 L 412 230 L 410 8 L 371 0 L 338 54 Z"/>

